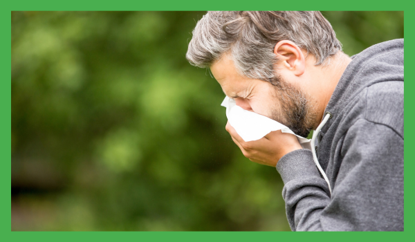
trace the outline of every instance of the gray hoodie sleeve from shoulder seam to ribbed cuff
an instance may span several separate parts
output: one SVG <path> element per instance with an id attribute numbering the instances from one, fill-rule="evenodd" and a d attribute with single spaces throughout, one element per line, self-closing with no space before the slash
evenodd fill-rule
<path id="1" fill-rule="evenodd" d="M 328 174 L 332 196 L 311 151 L 293 151 L 277 163 L 291 229 L 403 230 L 403 137 L 384 124 L 361 119 L 339 146 L 338 175 Z"/>

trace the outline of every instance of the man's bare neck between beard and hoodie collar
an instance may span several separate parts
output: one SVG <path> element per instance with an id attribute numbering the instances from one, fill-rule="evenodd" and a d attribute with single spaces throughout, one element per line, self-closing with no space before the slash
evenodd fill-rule
<path id="1" fill-rule="evenodd" d="M 331 95 L 333 95 L 335 87 L 338 85 L 344 70 L 346 70 L 350 62 L 351 58 L 340 51 L 331 57 L 329 65 L 320 68 L 319 79 L 321 82 L 319 87 L 320 91 L 316 95 L 318 97 L 318 111 L 316 113 L 317 120 L 314 129 L 317 129 L 317 126 L 322 122 L 324 110 L 327 104 L 329 104 Z"/>

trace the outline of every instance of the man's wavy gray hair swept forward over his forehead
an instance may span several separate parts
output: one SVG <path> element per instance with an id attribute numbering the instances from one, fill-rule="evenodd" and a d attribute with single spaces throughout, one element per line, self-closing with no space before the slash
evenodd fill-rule
<path id="1" fill-rule="evenodd" d="M 186 58 L 194 66 L 209 68 L 227 53 L 241 75 L 272 83 L 274 48 L 284 39 L 314 55 L 315 65 L 342 50 L 321 12 L 227 11 L 208 12 L 198 21 Z"/>

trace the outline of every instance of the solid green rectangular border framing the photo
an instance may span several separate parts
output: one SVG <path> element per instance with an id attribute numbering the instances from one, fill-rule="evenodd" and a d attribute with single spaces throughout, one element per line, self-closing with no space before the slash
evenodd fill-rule
<path id="1" fill-rule="evenodd" d="M 351 232 L 339 234 L 322 234 L 313 233 L 288 233 L 288 232 L 11 232 L 11 11 L 14 10 L 399 10 L 404 11 L 405 39 L 412 43 L 414 31 L 409 26 L 415 23 L 414 1 L 385 1 L 385 0 L 348 0 L 348 1 L 88 1 L 88 0 L 72 0 L 72 1 L 30 1 L 19 0 L 12 2 L 3 2 L 1 10 L 1 32 L 5 33 L 1 39 L 1 74 L 3 81 L 1 82 L 1 110 L 3 116 L 1 118 L 1 192 L 5 194 L 1 201 L 1 231 L 3 241 L 73 241 L 73 240 L 100 240 L 100 241 L 116 241 L 119 239 L 156 239 L 156 240 L 178 240 L 178 241 L 212 241 L 212 240 L 229 240 L 229 241 L 258 241 L 262 239 L 279 240 L 300 240 L 321 241 L 322 239 L 335 241 L 353 240 L 376 240 L 376 241 L 407 241 L 413 237 L 412 227 L 414 227 L 414 195 L 411 192 L 414 178 L 409 176 L 414 171 L 414 163 L 410 162 L 414 158 L 414 154 L 405 150 L 405 232 Z M 412 23 L 412 24 L 411 24 Z M 412 53 L 414 47 L 409 44 L 405 47 L 407 53 L 407 65 L 413 63 Z M 409 53 L 409 54 L 408 54 Z M 409 58 L 408 58 L 409 57 Z M 414 69 L 409 68 L 405 71 L 405 75 L 409 80 L 414 76 Z M 415 91 L 415 83 L 407 82 L 405 84 L 406 92 Z M 414 96 L 405 95 L 405 122 L 408 124 L 412 119 L 412 111 L 410 107 L 414 102 Z M 405 134 L 408 137 L 414 134 L 414 128 L 407 126 Z M 405 147 L 412 147 L 414 141 L 407 139 Z M 409 187 L 409 188 L 408 188 Z M 358 233 L 358 234 L 356 234 Z"/>

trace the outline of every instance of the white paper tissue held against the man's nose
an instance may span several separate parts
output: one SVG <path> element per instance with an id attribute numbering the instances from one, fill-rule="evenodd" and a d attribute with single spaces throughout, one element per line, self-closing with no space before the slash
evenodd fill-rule
<path id="1" fill-rule="evenodd" d="M 281 130 L 282 133 L 292 133 L 297 136 L 284 124 L 280 124 L 264 115 L 242 109 L 240 106 L 237 106 L 235 100 L 228 96 L 225 97 L 221 106 L 226 108 L 226 117 L 228 117 L 230 125 L 245 142 L 259 140 L 271 131 L 277 130 Z M 297 139 L 304 149 L 311 149 L 310 140 L 301 136 L 297 136 Z"/>

